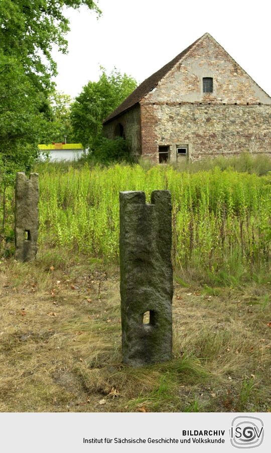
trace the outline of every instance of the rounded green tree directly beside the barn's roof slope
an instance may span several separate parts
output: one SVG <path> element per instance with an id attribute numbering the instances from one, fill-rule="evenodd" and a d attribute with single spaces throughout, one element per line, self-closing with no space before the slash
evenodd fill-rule
<path id="1" fill-rule="evenodd" d="M 114 69 L 106 74 L 104 68 L 98 82 L 88 82 L 71 107 L 75 137 L 84 146 L 91 146 L 99 135 L 102 121 L 137 87 L 137 82 Z"/>

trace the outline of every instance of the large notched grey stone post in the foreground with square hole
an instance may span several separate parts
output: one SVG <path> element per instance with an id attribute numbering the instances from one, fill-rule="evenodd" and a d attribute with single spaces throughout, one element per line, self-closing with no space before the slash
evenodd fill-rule
<path id="1" fill-rule="evenodd" d="M 146 204 L 142 191 L 120 192 L 119 201 L 123 362 L 163 362 L 172 351 L 171 194 L 155 190 Z"/>

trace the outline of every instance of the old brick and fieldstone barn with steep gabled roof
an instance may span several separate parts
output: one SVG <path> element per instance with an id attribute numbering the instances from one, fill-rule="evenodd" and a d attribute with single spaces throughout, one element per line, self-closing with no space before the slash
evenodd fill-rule
<path id="1" fill-rule="evenodd" d="M 103 134 L 156 162 L 271 153 L 271 98 L 206 33 L 136 88 Z"/>

